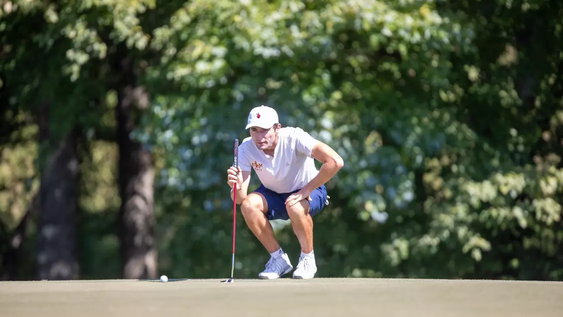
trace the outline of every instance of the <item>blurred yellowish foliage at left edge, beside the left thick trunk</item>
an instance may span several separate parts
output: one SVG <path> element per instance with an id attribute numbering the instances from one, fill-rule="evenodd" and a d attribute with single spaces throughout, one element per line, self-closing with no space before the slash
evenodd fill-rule
<path id="1" fill-rule="evenodd" d="M 9 95 L 2 93 L 2 97 Z M 20 109 L 3 109 L 7 124 L 0 141 L 0 279 L 14 280 L 34 271 L 27 261 L 33 252 L 26 247 L 38 213 L 37 128 Z"/>

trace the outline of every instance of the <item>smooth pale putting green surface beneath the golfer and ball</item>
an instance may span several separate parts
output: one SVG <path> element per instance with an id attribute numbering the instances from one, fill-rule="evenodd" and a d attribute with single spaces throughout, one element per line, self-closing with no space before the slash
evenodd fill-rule
<path id="1" fill-rule="evenodd" d="M 563 283 L 492 280 L 0 282 L 0 316 L 562 316 Z"/>

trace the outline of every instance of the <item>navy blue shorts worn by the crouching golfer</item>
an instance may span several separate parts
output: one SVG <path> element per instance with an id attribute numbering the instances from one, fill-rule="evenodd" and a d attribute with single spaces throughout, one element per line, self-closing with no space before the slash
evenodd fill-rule
<path id="1" fill-rule="evenodd" d="M 260 184 L 253 193 L 260 193 L 266 198 L 266 203 L 268 204 L 268 212 L 266 218 L 268 220 L 289 220 L 289 215 L 287 214 L 287 209 L 285 209 L 285 199 L 287 199 L 291 194 L 297 193 L 299 190 L 294 190 L 291 193 L 276 193 L 273 190 L 267 189 L 264 185 Z M 309 202 L 309 214 L 311 217 L 315 216 L 321 210 L 323 210 L 324 206 L 328 204 L 327 200 L 327 187 L 321 185 L 320 187 L 316 188 L 311 193 L 311 201 L 305 199 L 306 202 Z"/>

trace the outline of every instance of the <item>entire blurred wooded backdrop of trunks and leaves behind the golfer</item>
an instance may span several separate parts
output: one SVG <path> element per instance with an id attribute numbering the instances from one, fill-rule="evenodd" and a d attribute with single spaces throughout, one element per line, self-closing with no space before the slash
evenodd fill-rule
<path id="1" fill-rule="evenodd" d="M 226 169 L 269 105 L 345 160 L 317 276 L 561 280 L 562 26 L 559 0 L 1 0 L 0 279 L 228 277 Z M 240 213 L 235 256 L 269 259 Z"/>

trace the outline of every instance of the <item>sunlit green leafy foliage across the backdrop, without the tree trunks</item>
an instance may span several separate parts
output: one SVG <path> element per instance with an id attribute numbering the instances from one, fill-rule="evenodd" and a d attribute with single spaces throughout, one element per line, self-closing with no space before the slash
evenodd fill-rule
<path id="1" fill-rule="evenodd" d="M 315 220 L 319 276 L 561 279 L 560 2 L 14 3 L 15 105 L 56 100 L 53 120 L 99 133 L 118 57 L 136 65 L 163 273 L 229 273 L 225 171 L 267 104 L 345 159 Z M 296 258 L 291 226 L 278 235 Z M 236 275 L 256 276 L 268 255 L 240 216 L 236 247 Z"/>

